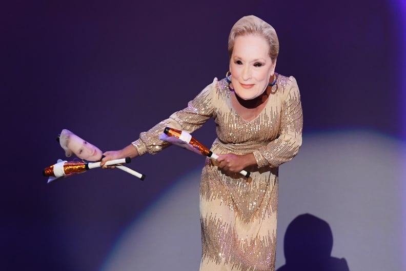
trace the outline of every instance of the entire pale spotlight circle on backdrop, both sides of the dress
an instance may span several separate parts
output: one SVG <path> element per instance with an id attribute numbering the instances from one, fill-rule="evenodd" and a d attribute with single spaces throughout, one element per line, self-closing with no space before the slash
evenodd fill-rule
<path id="1" fill-rule="evenodd" d="M 331 256 L 345 258 L 350 270 L 405 270 L 404 149 L 371 131 L 304 137 L 298 156 L 279 170 L 276 268 L 285 264 L 288 225 L 311 214 L 330 225 Z M 103 270 L 197 270 L 199 176 L 197 169 L 180 178 L 129 225 Z"/>

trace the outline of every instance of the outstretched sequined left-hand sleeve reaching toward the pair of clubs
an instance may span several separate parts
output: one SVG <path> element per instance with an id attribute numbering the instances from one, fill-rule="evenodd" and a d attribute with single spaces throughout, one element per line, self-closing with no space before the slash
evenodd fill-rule
<path id="1" fill-rule="evenodd" d="M 146 152 L 155 154 L 168 147 L 170 145 L 168 142 L 159 139 L 159 135 L 167 126 L 191 133 L 205 124 L 213 114 L 212 92 L 216 84 L 217 79 L 214 79 L 212 84 L 188 103 L 188 107 L 173 113 L 168 119 L 159 122 L 148 131 L 141 132 L 139 139 L 132 142 L 138 154 L 142 155 Z"/>

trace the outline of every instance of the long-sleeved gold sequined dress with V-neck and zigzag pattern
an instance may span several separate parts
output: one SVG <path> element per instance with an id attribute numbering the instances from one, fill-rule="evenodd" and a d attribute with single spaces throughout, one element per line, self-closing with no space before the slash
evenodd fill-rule
<path id="1" fill-rule="evenodd" d="M 299 150 L 302 108 L 292 76 L 278 74 L 272 89 L 265 108 L 246 121 L 232 107 L 227 81 L 215 79 L 187 108 L 132 143 L 140 155 L 154 154 L 168 146 L 158 139 L 166 126 L 193 132 L 214 118 L 214 153 L 254 153 L 257 166 L 247 168 L 252 180 L 222 173 L 206 160 L 200 182 L 200 271 L 275 269 L 278 166 Z"/>

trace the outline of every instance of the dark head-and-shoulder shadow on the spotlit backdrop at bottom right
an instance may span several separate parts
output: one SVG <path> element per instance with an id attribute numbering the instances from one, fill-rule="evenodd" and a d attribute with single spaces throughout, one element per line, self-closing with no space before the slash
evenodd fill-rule
<path id="1" fill-rule="evenodd" d="M 331 257 L 330 225 L 310 214 L 297 216 L 286 229 L 283 250 L 286 264 L 277 271 L 349 271 L 346 259 Z"/>

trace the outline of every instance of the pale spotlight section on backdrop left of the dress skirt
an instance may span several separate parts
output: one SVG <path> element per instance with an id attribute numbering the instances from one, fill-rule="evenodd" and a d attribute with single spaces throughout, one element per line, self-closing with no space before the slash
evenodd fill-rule
<path id="1" fill-rule="evenodd" d="M 198 270 L 200 169 L 181 177 L 134 220 L 101 270 Z"/>

